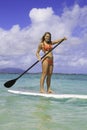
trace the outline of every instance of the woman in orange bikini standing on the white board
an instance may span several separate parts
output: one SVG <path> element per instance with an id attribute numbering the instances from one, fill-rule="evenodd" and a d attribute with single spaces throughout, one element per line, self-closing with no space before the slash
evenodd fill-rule
<path id="1" fill-rule="evenodd" d="M 66 40 L 66 38 L 63 38 Z M 52 45 L 58 44 L 61 40 L 63 39 L 58 39 L 56 41 L 51 41 L 51 33 L 46 32 L 41 39 L 41 42 L 38 46 L 36 56 L 38 60 L 41 60 L 40 57 L 40 51 L 42 50 L 45 54 L 52 49 Z M 40 79 L 40 92 L 41 93 L 46 93 L 44 90 L 44 81 L 46 78 L 46 83 L 47 83 L 47 93 L 53 93 L 53 91 L 50 88 L 51 84 L 51 75 L 53 72 L 53 53 L 50 51 L 43 59 L 42 59 L 42 75 Z"/>

